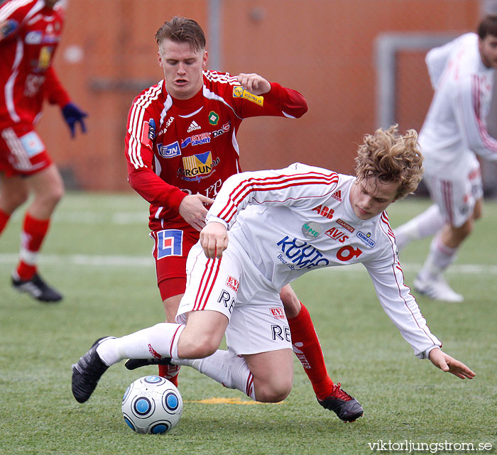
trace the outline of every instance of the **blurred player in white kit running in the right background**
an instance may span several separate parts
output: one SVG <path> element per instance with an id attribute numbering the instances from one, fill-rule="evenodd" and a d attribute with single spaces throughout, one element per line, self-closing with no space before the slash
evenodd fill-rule
<path id="1" fill-rule="evenodd" d="M 479 219 L 483 205 L 480 164 L 497 160 L 497 141 L 486 128 L 497 67 L 497 16 L 486 16 L 478 34 L 465 33 L 426 57 L 435 95 L 420 131 L 425 182 L 433 204 L 395 229 L 398 248 L 435 234 L 414 282 L 435 300 L 461 302 L 442 273 Z"/>

